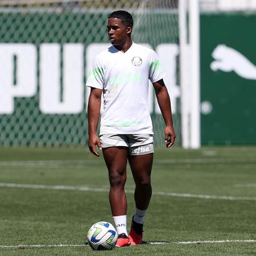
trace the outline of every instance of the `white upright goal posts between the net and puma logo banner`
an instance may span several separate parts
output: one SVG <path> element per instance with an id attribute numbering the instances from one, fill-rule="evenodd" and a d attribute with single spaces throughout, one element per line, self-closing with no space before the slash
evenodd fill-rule
<path id="1" fill-rule="evenodd" d="M 179 1 L 181 144 L 200 148 L 199 0 Z"/>

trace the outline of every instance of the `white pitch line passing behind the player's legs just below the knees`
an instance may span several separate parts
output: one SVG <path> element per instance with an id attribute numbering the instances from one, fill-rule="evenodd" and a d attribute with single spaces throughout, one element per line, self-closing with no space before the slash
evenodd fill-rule
<path id="1" fill-rule="evenodd" d="M 75 187 L 75 186 L 54 186 L 54 185 L 33 185 L 33 184 L 17 184 L 17 183 L 0 183 L 0 187 L 6 188 L 28 188 L 28 189 L 55 189 L 55 190 L 71 190 L 71 191 L 87 191 L 87 192 L 109 192 L 107 188 L 92 188 L 92 187 Z M 126 193 L 133 194 L 133 190 L 126 190 Z M 256 201 L 256 197 L 234 197 L 234 196 L 209 196 L 209 195 L 195 195 L 189 193 L 171 193 L 154 191 L 156 196 L 170 196 L 170 197 L 187 197 L 197 199 L 216 199 L 216 200 L 232 200 L 232 201 Z"/>

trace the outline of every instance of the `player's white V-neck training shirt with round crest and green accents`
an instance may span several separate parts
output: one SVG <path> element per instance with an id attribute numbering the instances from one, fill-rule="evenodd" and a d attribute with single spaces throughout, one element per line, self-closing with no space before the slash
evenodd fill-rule
<path id="1" fill-rule="evenodd" d="M 153 134 L 148 109 L 148 79 L 163 79 L 156 53 L 133 43 L 125 52 L 114 46 L 97 55 L 86 86 L 103 90 L 102 134 Z"/>

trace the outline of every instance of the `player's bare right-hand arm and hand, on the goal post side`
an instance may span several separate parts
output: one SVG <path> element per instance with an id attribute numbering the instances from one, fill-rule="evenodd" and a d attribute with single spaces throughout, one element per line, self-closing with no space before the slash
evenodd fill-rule
<path id="1" fill-rule="evenodd" d="M 172 121 L 170 96 L 163 79 L 153 82 L 153 85 L 156 98 L 158 100 L 158 105 L 163 115 L 164 122 L 166 123 L 166 128 L 164 129 L 164 141 L 166 142 L 166 147 L 171 147 L 174 144 L 176 136 L 174 131 L 174 123 Z"/>

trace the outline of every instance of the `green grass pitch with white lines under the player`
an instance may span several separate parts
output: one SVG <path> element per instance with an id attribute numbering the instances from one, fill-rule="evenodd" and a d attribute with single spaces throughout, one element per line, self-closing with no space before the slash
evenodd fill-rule
<path id="1" fill-rule="evenodd" d="M 94 222 L 113 223 L 102 154 L 1 148 L 0 183 L 0 255 L 256 255 L 256 147 L 156 148 L 144 243 L 113 251 L 84 245 Z"/>

